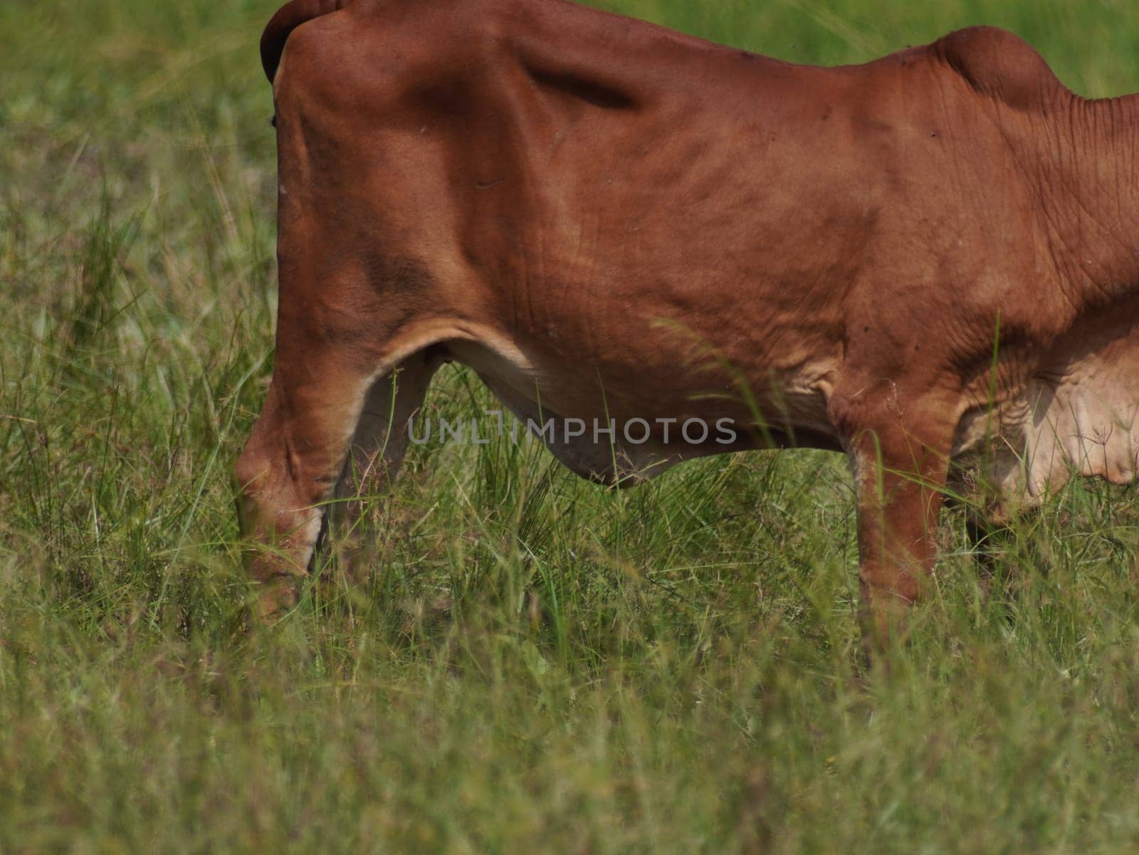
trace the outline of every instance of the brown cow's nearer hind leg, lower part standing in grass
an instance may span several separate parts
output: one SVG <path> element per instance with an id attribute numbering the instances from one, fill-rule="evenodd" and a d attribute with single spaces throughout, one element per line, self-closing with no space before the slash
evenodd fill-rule
<path id="1" fill-rule="evenodd" d="M 247 568 L 261 617 L 296 603 L 372 378 L 313 346 L 279 351 L 261 417 L 237 462 Z"/>

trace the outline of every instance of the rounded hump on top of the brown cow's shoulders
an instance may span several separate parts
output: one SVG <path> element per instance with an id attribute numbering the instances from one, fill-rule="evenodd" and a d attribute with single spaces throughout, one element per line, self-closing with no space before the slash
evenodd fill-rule
<path id="1" fill-rule="evenodd" d="M 1007 30 L 967 27 L 928 49 L 977 92 L 1016 109 L 1044 112 L 1059 93 L 1067 92 L 1044 58 Z"/>

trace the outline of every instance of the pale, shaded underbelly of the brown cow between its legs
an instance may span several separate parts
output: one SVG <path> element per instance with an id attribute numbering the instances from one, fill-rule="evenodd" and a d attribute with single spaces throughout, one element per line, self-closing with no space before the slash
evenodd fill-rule
<path id="1" fill-rule="evenodd" d="M 568 360 L 492 337 L 449 342 L 445 351 L 532 431 L 544 430 L 542 439 L 563 463 L 604 483 L 644 480 L 683 460 L 732 451 L 839 447 L 827 421 L 829 360 L 753 383 L 682 370 L 679 352 L 677 368 L 665 371 L 656 364 L 638 370 L 634 348 L 625 362 L 608 361 L 608 370 L 588 355 Z"/>

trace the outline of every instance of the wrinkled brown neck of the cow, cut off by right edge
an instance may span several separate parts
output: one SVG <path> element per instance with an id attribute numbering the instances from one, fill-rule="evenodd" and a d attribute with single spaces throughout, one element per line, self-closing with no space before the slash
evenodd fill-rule
<path id="1" fill-rule="evenodd" d="M 1139 296 L 1139 94 L 1076 99 L 1056 121 L 1038 204 L 1059 272 L 1090 303 Z"/>

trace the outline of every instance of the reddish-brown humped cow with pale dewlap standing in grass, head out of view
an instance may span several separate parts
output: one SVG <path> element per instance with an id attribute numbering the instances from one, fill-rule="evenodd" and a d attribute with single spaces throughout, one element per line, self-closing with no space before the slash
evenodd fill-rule
<path id="1" fill-rule="evenodd" d="M 565 0 L 294 0 L 261 51 L 280 307 L 237 480 L 268 613 L 452 360 L 523 418 L 647 422 L 557 430 L 603 482 L 845 452 L 875 633 L 959 465 L 997 516 L 1136 475 L 1139 97 L 1015 35 L 819 68 Z"/>

